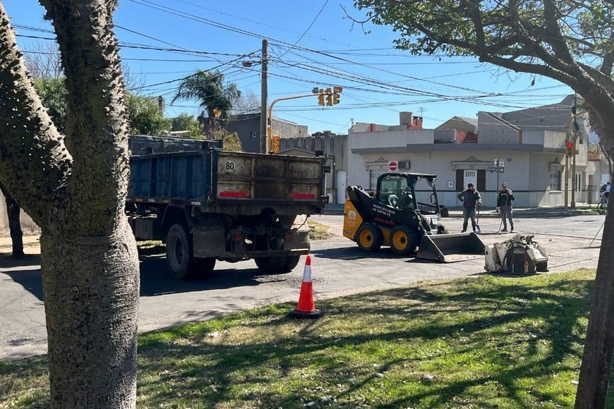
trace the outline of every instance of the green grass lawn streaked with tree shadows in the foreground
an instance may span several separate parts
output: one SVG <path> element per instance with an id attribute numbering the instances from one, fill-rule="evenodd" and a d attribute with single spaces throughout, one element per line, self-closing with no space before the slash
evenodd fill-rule
<path id="1" fill-rule="evenodd" d="M 571 408 L 593 279 L 428 281 L 316 299 L 317 320 L 282 304 L 143 334 L 138 407 Z M 44 407 L 45 372 L 0 362 L 0 407 Z"/>

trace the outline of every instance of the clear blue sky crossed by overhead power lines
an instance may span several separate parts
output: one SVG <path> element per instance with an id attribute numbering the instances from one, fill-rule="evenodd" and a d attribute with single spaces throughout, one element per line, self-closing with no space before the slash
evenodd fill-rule
<path id="1" fill-rule="evenodd" d="M 23 51 L 49 42 L 23 36 L 54 37 L 37 1 L 3 3 Z M 167 116 L 198 114 L 197 102 L 170 105 L 179 80 L 196 69 L 217 68 L 259 100 L 263 38 L 270 43 L 269 103 L 313 87 L 344 87 L 336 106 L 323 108 L 315 96 L 275 105 L 274 116 L 310 133 L 346 133 L 352 121 L 394 125 L 399 111 L 434 128 L 452 116 L 551 104 L 572 93 L 549 78 L 531 86 L 531 75 L 476 59 L 411 56 L 393 47 L 390 27 L 353 23 L 344 8 L 364 19 L 351 0 L 123 0 L 114 20 L 124 63 L 140 79 L 138 92 L 167 97 Z"/>

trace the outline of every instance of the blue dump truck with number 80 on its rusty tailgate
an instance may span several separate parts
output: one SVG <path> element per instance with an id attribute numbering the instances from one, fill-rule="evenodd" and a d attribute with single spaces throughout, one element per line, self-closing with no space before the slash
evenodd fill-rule
<path id="1" fill-rule="evenodd" d="M 307 218 L 327 203 L 326 158 L 230 152 L 219 140 L 133 135 L 126 214 L 137 240 L 166 244 L 176 279 L 217 260 L 291 271 L 310 250 Z"/>

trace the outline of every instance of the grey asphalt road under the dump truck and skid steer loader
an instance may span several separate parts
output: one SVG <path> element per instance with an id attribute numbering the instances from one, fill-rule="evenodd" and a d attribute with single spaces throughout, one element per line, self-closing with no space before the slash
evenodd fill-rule
<path id="1" fill-rule="evenodd" d="M 341 236 L 342 216 L 314 216 L 313 219 L 331 226 L 337 234 L 328 240 L 312 242 L 316 307 L 318 299 L 484 271 L 483 257 L 438 264 L 395 257 L 390 250 L 368 255 Z M 596 268 L 603 219 L 604 216 L 527 218 L 517 219 L 515 227 L 519 233 L 536 235 L 535 239 L 548 250 L 548 267 L 554 273 Z M 460 231 L 460 219 L 445 221 L 451 233 Z M 483 232 L 480 237 L 486 245 L 511 237 L 496 234 L 499 226 L 498 219 L 480 221 Z M 212 276 L 204 281 L 169 278 L 162 255 L 142 257 L 140 267 L 140 331 L 152 331 L 251 307 L 296 302 L 303 260 L 291 273 L 268 276 L 259 275 L 251 260 L 234 264 L 218 262 Z M 29 264 L 0 265 L 0 360 L 23 358 L 46 350 L 38 259 L 30 259 Z"/>

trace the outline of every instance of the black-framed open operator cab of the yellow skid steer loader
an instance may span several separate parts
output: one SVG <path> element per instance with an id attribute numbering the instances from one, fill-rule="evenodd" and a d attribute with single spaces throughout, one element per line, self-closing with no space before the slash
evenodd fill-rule
<path id="1" fill-rule="evenodd" d="M 439 214 L 436 179 L 426 173 L 384 173 L 378 178 L 375 200 L 399 210 Z"/>

